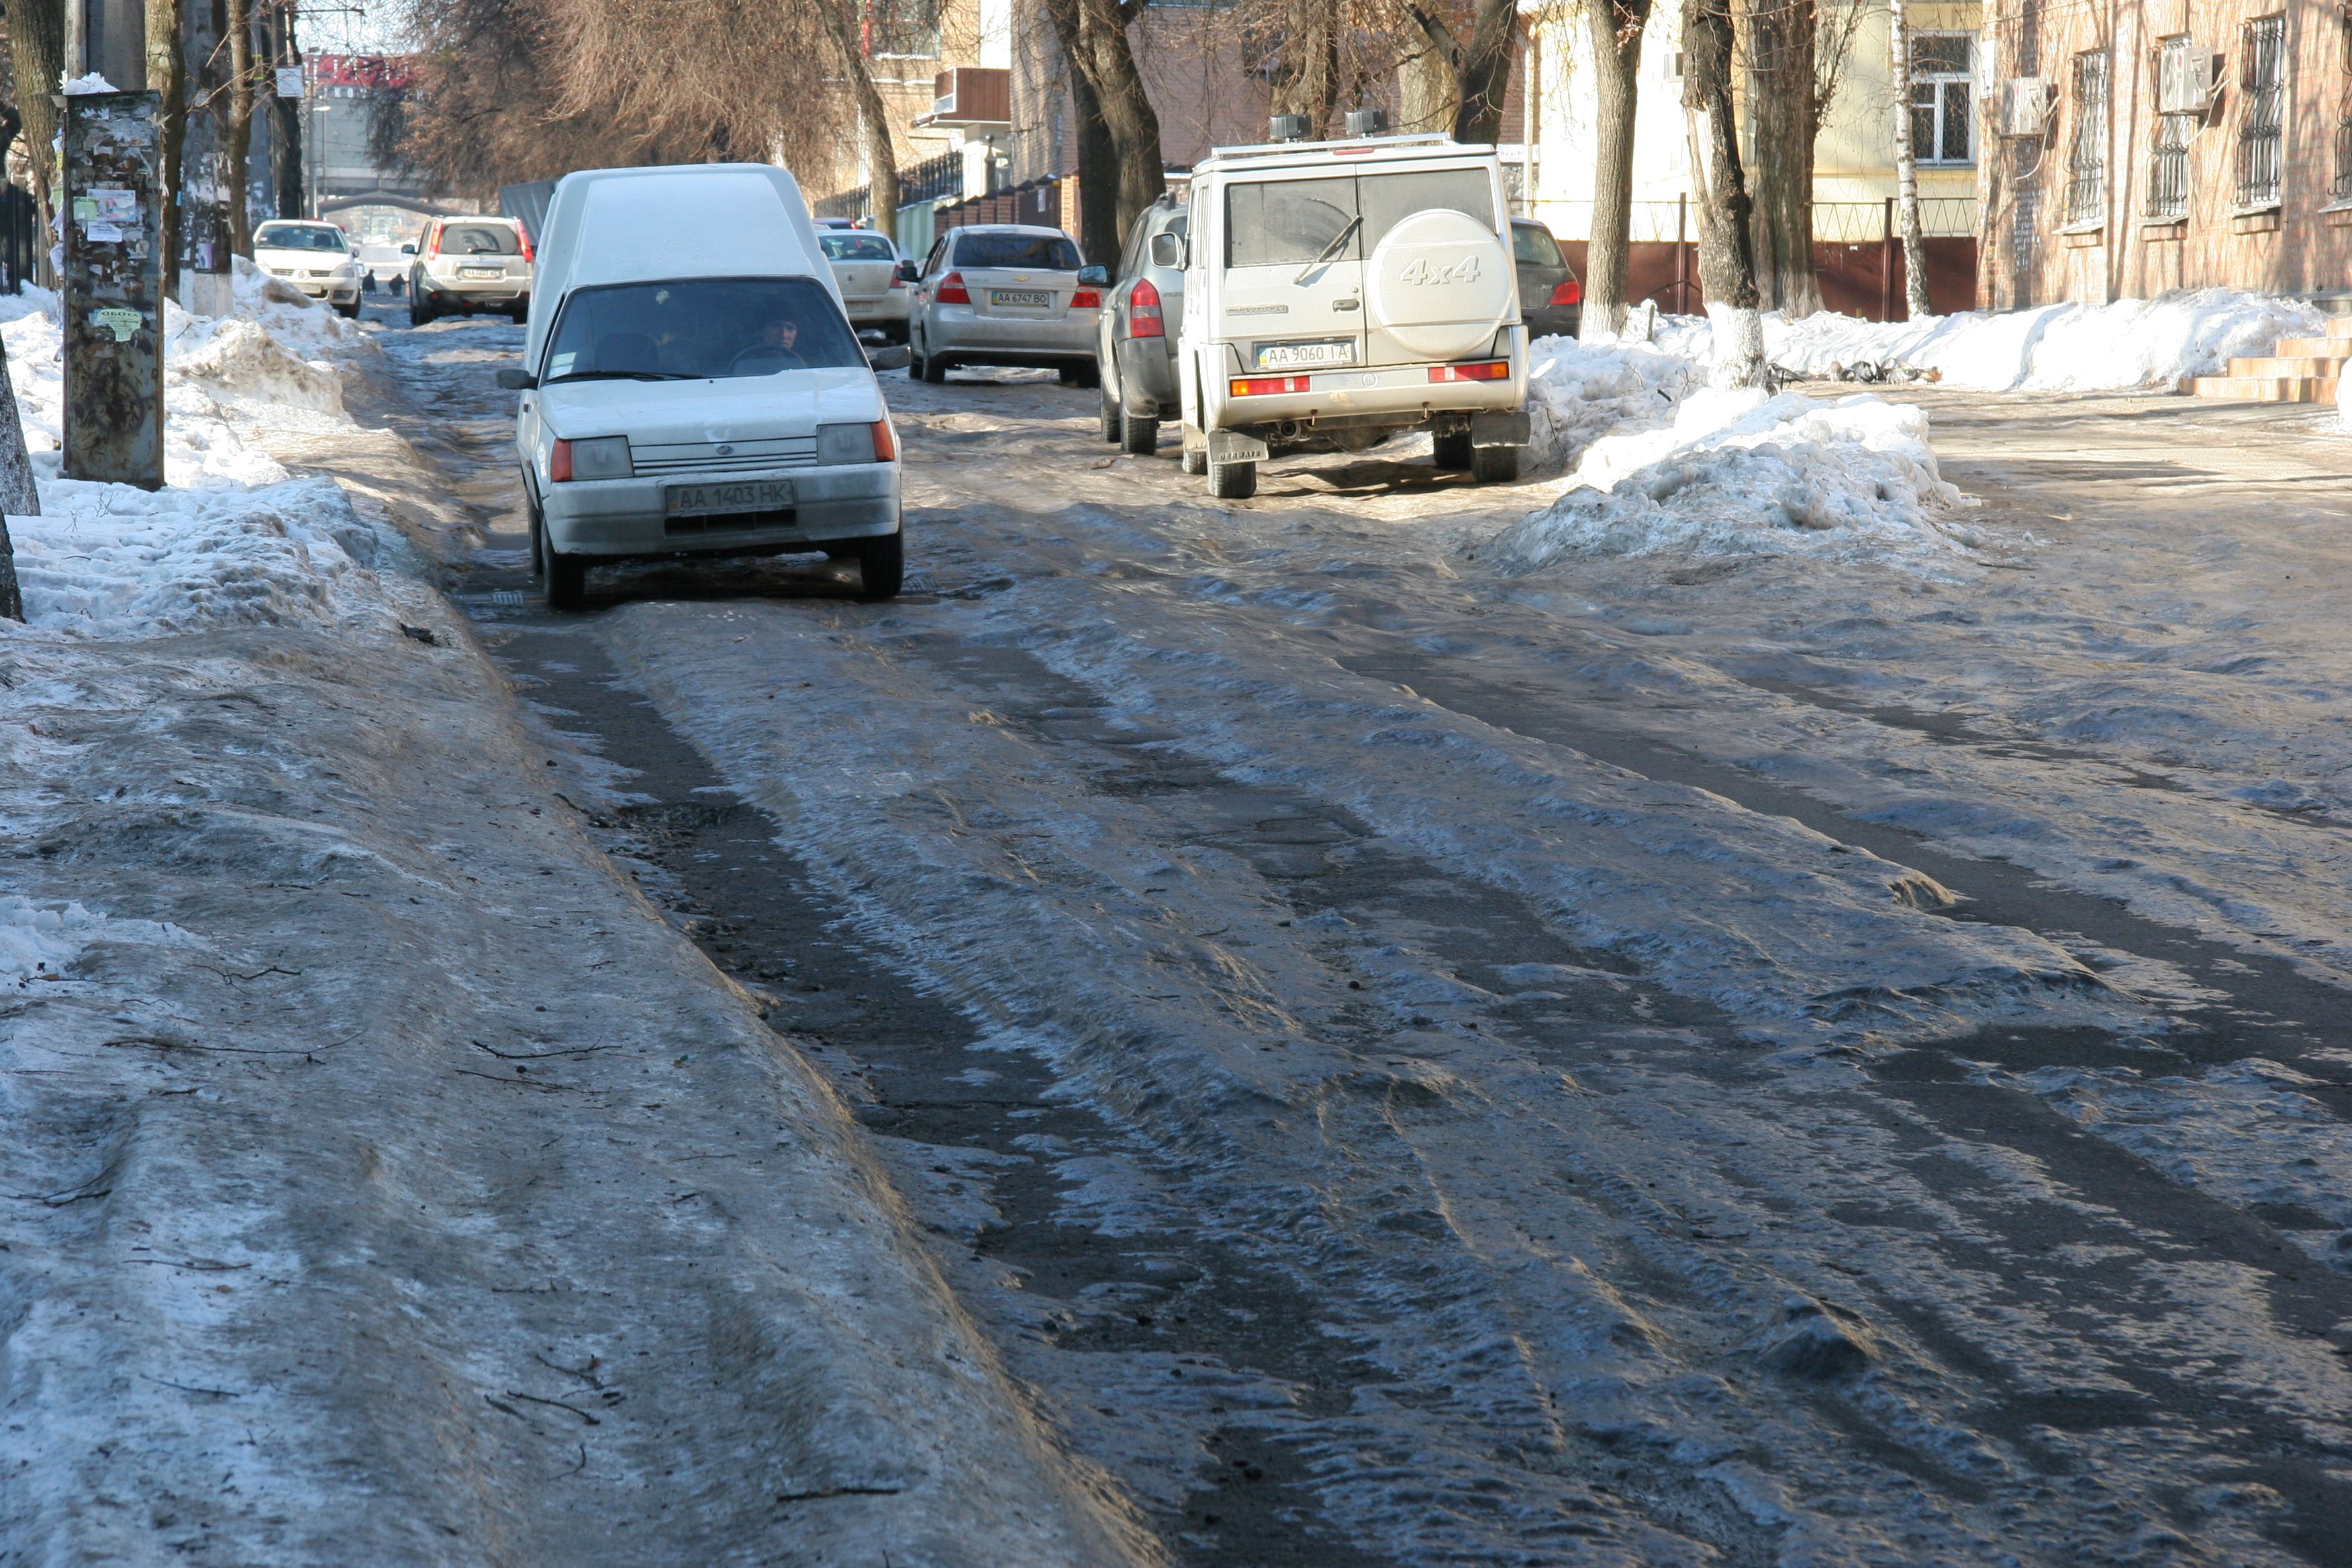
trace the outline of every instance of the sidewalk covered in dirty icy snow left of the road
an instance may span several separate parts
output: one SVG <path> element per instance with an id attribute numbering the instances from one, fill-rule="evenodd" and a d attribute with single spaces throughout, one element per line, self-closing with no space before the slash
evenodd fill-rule
<path id="1" fill-rule="evenodd" d="M 7 327 L 35 447 L 38 320 Z M 301 407 L 287 362 L 334 390 L 249 324 L 209 343 L 266 407 Z M 188 433 L 195 489 L 47 482 L 14 522 L 0 1540 L 1124 1561 L 840 1103 L 583 837 L 407 541 L 228 411 Z"/>

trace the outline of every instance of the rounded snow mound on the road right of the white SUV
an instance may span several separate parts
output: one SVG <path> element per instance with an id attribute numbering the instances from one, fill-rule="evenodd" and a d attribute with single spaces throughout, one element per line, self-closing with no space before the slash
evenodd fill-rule
<path id="1" fill-rule="evenodd" d="M 1936 470 L 1926 416 L 1877 397 L 1698 390 L 1658 430 L 1595 442 L 1576 489 L 1470 555 L 1505 571 L 1564 557 L 1806 555 L 1957 562 L 1976 534 Z"/>

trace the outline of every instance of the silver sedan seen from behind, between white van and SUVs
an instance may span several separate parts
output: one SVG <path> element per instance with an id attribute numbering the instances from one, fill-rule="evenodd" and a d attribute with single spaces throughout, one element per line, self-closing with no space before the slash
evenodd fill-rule
<path id="1" fill-rule="evenodd" d="M 950 228 L 915 284 L 913 371 L 941 381 L 957 364 L 1040 364 L 1094 386 L 1103 292 L 1077 282 L 1080 266 L 1077 242 L 1058 228 Z"/>

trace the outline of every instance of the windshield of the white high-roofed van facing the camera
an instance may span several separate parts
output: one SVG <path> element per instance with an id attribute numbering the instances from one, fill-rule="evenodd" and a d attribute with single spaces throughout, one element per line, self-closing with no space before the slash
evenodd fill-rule
<path id="1" fill-rule="evenodd" d="M 546 381 L 703 381 L 863 369 L 842 308 L 811 277 L 691 277 L 579 289 Z"/>

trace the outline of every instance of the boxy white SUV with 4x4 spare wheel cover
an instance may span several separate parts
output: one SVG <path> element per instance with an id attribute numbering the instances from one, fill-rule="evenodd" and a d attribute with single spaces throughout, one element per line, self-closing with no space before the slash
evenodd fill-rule
<path id="1" fill-rule="evenodd" d="M 1428 430 L 1442 468 L 1519 477 L 1526 327 L 1494 148 L 1444 136 L 1218 148 L 1192 169 L 1178 341 L 1185 470 L 1258 489 L 1282 451 Z"/>

